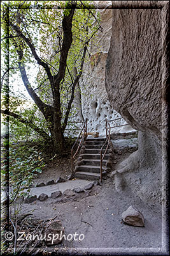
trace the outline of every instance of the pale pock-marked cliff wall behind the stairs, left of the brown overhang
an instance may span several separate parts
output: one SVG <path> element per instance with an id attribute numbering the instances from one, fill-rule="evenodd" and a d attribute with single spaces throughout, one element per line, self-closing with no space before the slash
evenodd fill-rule
<path id="1" fill-rule="evenodd" d="M 99 1 L 99 4 L 103 4 L 103 9 L 99 10 L 103 31 L 99 31 L 97 34 L 95 44 L 90 45 L 90 60 L 85 63 L 83 68 L 80 88 L 82 114 L 84 118 L 89 119 L 88 130 L 97 131 L 101 136 L 106 132 L 104 120 L 106 118 L 108 120 L 119 118 L 121 115 L 111 106 L 105 88 L 105 69 L 108 49 L 110 48 L 112 10 L 107 9 L 110 5 L 107 1 Z M 126 122 L 122 119 L 113 124 L 126 124 Z M 118 129 L 115 128 L 113 132 L 131 130 L 132 127 L 128 125 Z"/>

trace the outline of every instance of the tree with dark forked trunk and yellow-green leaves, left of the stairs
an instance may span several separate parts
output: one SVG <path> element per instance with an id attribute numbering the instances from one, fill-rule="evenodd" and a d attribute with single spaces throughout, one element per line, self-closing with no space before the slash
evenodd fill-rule
<path id="1" fill-rule="evenodd" d="M 9 88 L 3 84 L 2 93 L 8 91 L 10 97 L 4 97 L 1 113 L 15 118 L 12 126 L 18 120 L 50 142 L 54 152 L 62 151 L 64 131 L 76 108 L 76 84 L 89 44 L 101 29 L 99 17 L 89 7 L 90 1 L 2 2 L 2 48 L 9 56 L 2 82 L 5 76 L 19 72 L 33 104 L 32 109 L 19 113 L 18 107 L 24 106 L 23 95 L 16 96 L 15 83 L 9 83 Z"/>

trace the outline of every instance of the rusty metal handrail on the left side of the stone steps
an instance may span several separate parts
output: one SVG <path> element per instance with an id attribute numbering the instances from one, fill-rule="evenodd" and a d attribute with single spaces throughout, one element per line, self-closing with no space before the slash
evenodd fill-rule
<path id="1" fill-rule="evenodd" d="M 84 130 L 84 132 L 83 132 L 83 130 Z M 82 132 L 83 132 L 83 135 L 81 137 L 80 143 L 78 145 L 78 148 L 77 148 L 76 152 L 73 155 L 73 148 L 76 145 L 78 139 L 80 138 L 80 135 L 81 135 Z M 80 131 L 80 134 L 78 135 L 78 138 L 76 139 L 76 141 L 74 142 L 73 147 L 71 148 L 71 170 L 72 170 L 72 175 L 74 175 L 74 157 L 76 156 L 76 154 L 78 153 L 78 150 L 80 149 L 81 142 L 85 141 L 84 140 L 85 139 L 85 135 L 87 135 L 87 118 L 85 119 L 85 122 L 83 123 L 83 127 L 82 127 L 82 129 Z"/>

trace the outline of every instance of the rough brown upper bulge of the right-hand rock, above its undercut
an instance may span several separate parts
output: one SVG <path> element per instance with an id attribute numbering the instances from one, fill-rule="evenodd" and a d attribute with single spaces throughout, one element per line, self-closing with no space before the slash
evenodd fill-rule
<path id="1" fill-rule="evenodd" d="M 161 136 L 161 10 L 113 10 L 106 90 L 133 127 Z"/>

